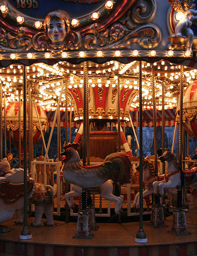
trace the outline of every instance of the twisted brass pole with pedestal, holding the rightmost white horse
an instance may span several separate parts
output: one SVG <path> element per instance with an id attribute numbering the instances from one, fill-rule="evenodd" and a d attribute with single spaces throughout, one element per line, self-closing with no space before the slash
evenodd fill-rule
<path id="1" fill-rule="evenodd" d="M 183 70 L 183 66 L 181 66 L 180 94 L 179 94 L 180 95 L 179 96 L 179 169 L 181 172 L 181 177 L 183 177 L 183 171 L 182 171 L 183 77 L 184 77 L 184 70 Z M 172 207 L 172 209 L 173 209 L 173 222 L 172 222 L 170 233 L 174 235 L 187 235 L 188 234 L 187 222 L 185 217 L 185 212 L 187 212 L 187 209 L 182 208 L 182 186 L 177 187 L 177 207 Z"/>

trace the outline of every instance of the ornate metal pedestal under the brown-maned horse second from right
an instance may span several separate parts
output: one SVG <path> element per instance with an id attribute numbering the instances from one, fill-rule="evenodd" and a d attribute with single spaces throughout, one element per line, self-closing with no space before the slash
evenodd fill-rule
<path id="1" fill-rule="evenodd" d="M 166 227 L 164 221 L 164 207 L 163 205 L 152 205 L 150 224 L 147 224 L 152 228 L 164 228 Z"/>

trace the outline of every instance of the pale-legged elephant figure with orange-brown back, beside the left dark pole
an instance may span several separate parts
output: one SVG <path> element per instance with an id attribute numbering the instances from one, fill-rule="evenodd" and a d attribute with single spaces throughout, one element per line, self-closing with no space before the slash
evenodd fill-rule
<path id="1" fill-rule="evenodd" d="M 33 198 L 31 203 L 35 204 L 35 219 L 31 223 L 32 226 L 41 226 L 43 213 L 47 218 L 44 225 L 53 226 L 53 187 L 41 183 L 34 184 Z"/>

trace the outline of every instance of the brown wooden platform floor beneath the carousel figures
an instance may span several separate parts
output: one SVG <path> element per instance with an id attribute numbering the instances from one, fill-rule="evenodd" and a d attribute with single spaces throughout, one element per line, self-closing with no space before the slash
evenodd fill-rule
<path id="1" fill-rule="evenodd" d="M 189 211 L 186 214 L 187 218 L 187 231 L 189 232 L 189 235 L 184 236 L 174 236 L 169 233 L 169 230 L 171 229 L 172 225 L 172 216 L 168 217 L 166 220 L 166 228 L 161 229 L 154 229 L 147 226 L 149 221 L 144 222 L 143 228 L 144 232 L 146 234 L 146 237 L 148 238 L 148 242 L 146 244 L 141 243 L 135 243 L 134 238 L 136 237 L 136 233 L 139 230 L 139 223 L 138 222 L 131 222 L 131 223 L 122 223 L 122 224 L 116 224 L 116 223 L 98 223 L 99 229 L 97 231 L 93 231 L 94 237 L 92 239 L 74 239 L 73 235 L 75 235 L 76 232 L 76 223 L 64 223 L 61 221 L 55 221 L 56 225 L 53 227 L 45 227 L 41 226 L 39 228 L 31 227 L 29 226 L 30 233 L 33 235 L 33 238 L 30 240 L 23 240 L 20 241 L 19 236 L 21 233 L 21 230 L 23 229 L 23 225 L 14 225 L 13 219 L 9 220 L 6 223 L 1 223 L 3 225 L 8 225 L 10 227 L 10 232 L 8 233 L 0 233 L 0 243 L 2 244 L 3 241 L 6 242 L 15 242 L 15 243 L 28 243 L 30 244 L 36 244 L 36 245 L 49 245 L 49 246 L 68 246 L 70 247 L 94 247 L 94 248 L 138 248 L 138 253 L 132 254 L 120 254 L 122 256 L 124 255 L 196 255 L 197 254 L 197 195 L 192 195 L 190 197 L 189 204 Z M 34 218 L 28 218 L 28 224 L 33 221 Z M 44 221 L 44 220 L 43 220 Z M 190 247 L 187 246 L 189 249 L 185 249 L 188 254 L 177 254 L 179 251 L 177 249 L 177 245 L 182 246 L 187 244 L 190 245 Z M 1 245 L 0 244 L 0 245 Z M 154 247 L 154 250 L 156 250 L 155 246 L 159 246 L 158 248 L 168 248 L 168 253 L 162 254 L 152 254 L 150 253 L 151 246 Z M 167 247 L 168 246 L 168 247 Z M 169 253 L 169 246 L 171 246 L 174 250 L 173 253 Z M 140 254 L 139 248 L 149 248 L 149 254 Z M 170 247 L 170 248 L 171 248 Z M 129 250 L 129 249 L 128 249 Z M 144 250 L 144 249 L 143 249 Z M 158 249 L 160 250 L 160 249 Z M 189 251 L 190 250 L 190 253 Z M 176 252 L 176 253 L 175 253 Z M 3 256 L 4 254 L 1 254 Z M 7 255 L 7 254 L 5 254 Z M 9 254 L 8 254 L 9 255 Z M 21 254 L 26 255 L 26 254 Z M 27 254 L 30 255 L 30 254 Z M 34 254 L 32 254 L 34 255 Z M 41 254 L 40 254 L 41 255 Z M 46 254 L 47 255 L 47 254 Z M 48 254 L 53 255 L 53 254 Z M 54 254 L 55 255 L 55 254 Z M 69 255 L 69 254 L 65 254 Z M 86 255 L 86 254 L 71 254 L 71 255 Z M 88 255 L 88 254 L 87 254 Z M 93 254 L 92 254 L 93 255 Z M 119 255 L 119 254 L 96 254 L 96 255 Z M 95 256 L 96 256 L 95 255 Z M 39 256 L 39 255 L 37 255 Z"/>

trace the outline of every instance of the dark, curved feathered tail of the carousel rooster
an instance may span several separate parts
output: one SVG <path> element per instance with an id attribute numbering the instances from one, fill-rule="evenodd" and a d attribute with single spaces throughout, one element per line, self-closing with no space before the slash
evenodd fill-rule
<path id="1" fill-rule="evenodd" d="M 113 165 L 113 171 L 109 179 L 112 179 L 115 183 L 120 182 L 120 184 L 130 183 L 131 161 L 128 154 L 124 152 L 113 153 L 106 156 L 104 164 L 106 161 L 111 161 Z"/>

